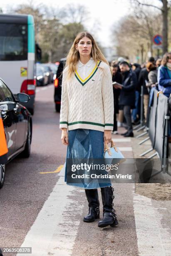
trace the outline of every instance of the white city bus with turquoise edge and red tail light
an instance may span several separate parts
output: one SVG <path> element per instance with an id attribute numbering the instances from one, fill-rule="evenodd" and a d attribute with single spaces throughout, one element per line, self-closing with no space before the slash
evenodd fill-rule
<path id="1" fill-rule="evenodd" d="M 32 15 L 0 14 L 0 77 L 15 97 L 30 96 L 25 107 L 33 115 L 35 105 L 35 25 Z"/>

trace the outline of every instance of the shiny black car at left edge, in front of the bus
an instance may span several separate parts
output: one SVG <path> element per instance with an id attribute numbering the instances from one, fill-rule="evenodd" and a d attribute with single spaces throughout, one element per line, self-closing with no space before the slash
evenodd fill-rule
<path id="1" fill-rule="evenodd" d="M 7 141 L 7 162 L 18 154 L 22 157 L 30 156 L 32 141 L 32 116 L 22 103 L 27 103 L 30 97 L 25 93 L 18 93 L 17 100 L 0 79 L 0 111 Z M 0 188 L 5 180 L 5 164 L 0 164 Z"/>

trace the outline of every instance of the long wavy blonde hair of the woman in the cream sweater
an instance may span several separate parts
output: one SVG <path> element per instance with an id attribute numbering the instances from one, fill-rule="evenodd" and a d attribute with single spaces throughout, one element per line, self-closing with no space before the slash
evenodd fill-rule
<path id="1" fill-rule="evenodd" d="M 76 38 L 74 40 L 74 43 L 72 44 L 71 49 L 69 50 L 69 53 L 67 55 L 67 61 L 66 61 L 66 64 L 65 64 L 65 67 L 68 67 L 67 80 L 69 80 L 74 75 L 75 70 L 76 70 L 77 61 L 79 61 L 79 51 L 76 50 L 75 45 L 78 44 L 79 41 L 84 36 L 88 37 L 92 42 L 91 57 L 94 59 L 94 61 L 95 62 L 104 61 L 109 66 L 108 61 L 106 60 L 106 58 L 104 57 L 104 55 L 100 51 L 100 49 L 99 49 L 96 41 L 92 37 L 92 35 L 88 32 L 81 32 L 76 36 Z M 100 67 L 98 67 L 98 68 L 100 68 Z M 110 66 L 109 66 L 109 68 L 110 68 Z M 111 68 L 110 68 L 110 70 L 111 70 Z M 112 75 L 112 70 L 111 70 L 111 75 Z"/>

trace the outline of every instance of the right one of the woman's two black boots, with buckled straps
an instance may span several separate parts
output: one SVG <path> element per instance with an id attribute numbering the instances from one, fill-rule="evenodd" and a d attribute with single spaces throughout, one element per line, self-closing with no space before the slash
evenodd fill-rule
<path id="1" fill-rule="evenodd" d="M 110 225 L 114 227 L 118 224 L 116 219 L 116 213 L 113 209 L 114 199 L 114 188 L 113 187 L 102 187 L 102 202 L 103 202 L 103 220 L 99 221 L 98 227 L 104 228 Z"/>

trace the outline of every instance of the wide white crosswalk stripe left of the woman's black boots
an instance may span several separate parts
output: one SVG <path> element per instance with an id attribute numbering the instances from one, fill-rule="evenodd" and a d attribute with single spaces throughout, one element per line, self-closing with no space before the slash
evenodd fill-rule
<path id="1" fill-rule="evenodd" d="M 83 189 L 66 185 L 64 177 L 59 177 L 21 247 L 32 247 L 34 256 L 71 255 L 80 223 L 80 220 L 75 219 L 75 215 L 77 212 L 82 213 L 84 207 L 81 202 L 72 200 L 71 196 L 74 192 L 78 194 L 82 191 Z M 79 198 L 79 195 L 77 196 Z M 28 256 L 26 253 L 22 255 Z"/>

